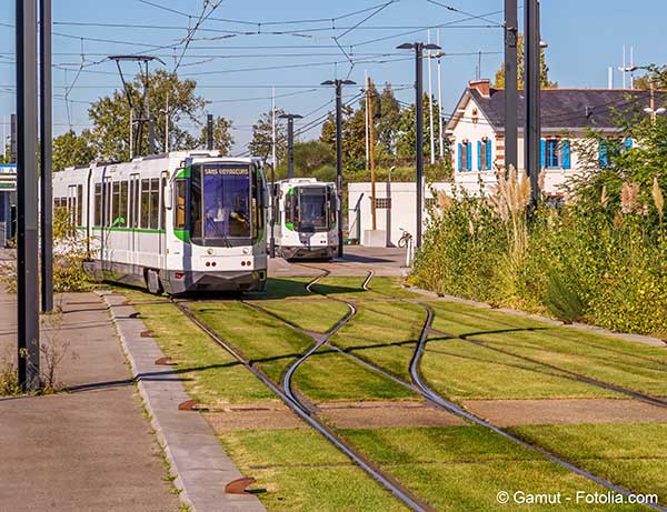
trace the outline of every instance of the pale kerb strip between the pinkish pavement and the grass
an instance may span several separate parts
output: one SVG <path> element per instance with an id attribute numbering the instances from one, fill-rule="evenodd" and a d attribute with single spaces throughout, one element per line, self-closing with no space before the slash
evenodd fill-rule
<path id="1" fill-rule="evenodd" d="M 165 357 L 146 324 L 136 317 L 123 295 L 104 293 L 118 328 L 139 391 L 152 418 L 152 425 L 182 489 L 181 500 L 193 511 L 263 512 L 251 494 L 227 494 L 225 486 L 243 475 L 222 450 L 206 419 L 196 411 L 180 411 L 190 396 L 178 374 L 156 362 Z M 143 335 L 142 335 L 143 334 Z"/>

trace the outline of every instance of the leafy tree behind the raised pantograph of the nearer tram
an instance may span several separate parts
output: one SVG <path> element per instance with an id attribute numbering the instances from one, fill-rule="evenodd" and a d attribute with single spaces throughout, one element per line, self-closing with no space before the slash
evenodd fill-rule
<path id="1" fill-rule="evenodd" d="M 195 80 L 181 80 L 176 73 L 157 70 L 148 77 L 150 88 L 150 113 L 155 118 L 156 148 L 165 150 L 166 107 L 169 100 L 169 149 L 192 149 L 197 139 L 182 127 L 200 123 L 206 101 L 196 94 Z M 146 117 L 143 112 L 143 82 L 141 77 L 128 83 L 132 98 L 133 119 Z M 91 104 L 88 116 L 93 122 L 91 141 L 98 154 L 104 160 L 128 160 L 130 155 L 130 106 L 123 90 L 117 90 Z M 148 148 L 148 126 L 143 123 L 140 140 L 135 141 L 135 153 L 146 153 Z M 138 129 L 135 129 L 137 138 Z"/>

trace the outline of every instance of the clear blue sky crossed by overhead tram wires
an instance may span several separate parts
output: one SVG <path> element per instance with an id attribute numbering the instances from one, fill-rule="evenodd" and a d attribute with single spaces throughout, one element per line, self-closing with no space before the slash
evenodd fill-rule
<path id="1" fill-rule="evenodd" d="M 70 126 L 77 131 L 89 126 L 88 102 L 120 87 L 115 64 L 94 63 L 103 61 L 104 56 L 145 51 L 160 56 L 167 68 L 172 69 L 173 56 L 181 54 L 182 47 L 178 42 L 187 33 L 187 16 L 140 0 L 52 1 L 53 31 L 59 34 L 53 37 L 53 59 L 58 63 L 53 74 L 56 133 Z M 395 84 L 402 101 L 412 101 L 414 63 L 407 52 L 395 48 L 401 42 L 426 40 L 427 27 L 451 23 L 440 29 L 441 46 L 450 54 L 442 60 L 442 102 L 448 111 L 454 108 L 467 81 L 475 78 L 478 56 L 474 53 L 482 52 L 482 77 L 492 78 L 500 66 L 502 30 L 497 23 L 502 20 L 504 0 L 438 1 L 459 11 L 484 14 L 484 19 L 461 21 L 470 17 L 427 0 L 399 0 L 348 31 L 374 10 L 338 17 L 381 6 L 384 0 L 227 0 L 211 14 L 211 18 L 219 19 L 207 20 L 195 34 L 179 73 L 198 81 L 199 93 L 212 101 L 210 112 L 233 121 L 235 150 L 242 151 L 250 138 L 250 126 L 270 108 L 268 97 L 272 86 L 277 89 L 278 107 L 301 114 L 315 111 L 302 123 L 317 119 L 332 107 L 326 104 L 332 99 L 332 91 L 318 84 L 335 76 L 345 78 L 350 70 L 334 36 L 352 60 L 360 61 L 351 70 L 351 79 L 362 83 L 365 72 L 368 72 L 376 83 L 389 81 Z M 13 24 L 13 1 L 2 0 L 2 3 L 9 9 L 0 12 L 0 69 L 3 77 L 0 80 L 0 120 L 13 111 L 14 101 L 13 29 L 7 27 Z M 203 2 L 155 0 L 155 3 L 191 14 L 195 23 Z M 519 17 L 522 18 L 522 12 Z M 302 21 L 332 18 L 338 19 Z M 547 59 L 551 79 L 563 88 L 605 88 L 607 68 L 620 66 L 624 44 L 628 52 L 629 47 L 634 47 L 637 64 L 667 63 L 667 49 L 659 40 L 666 19 L 667 2 L 664 0 L 542 0 L 542 39 L 549 43 Z M 301 21 L 271 24 L 292 20 Z M 265 24 L 258 27 L 252 23 Z M 258 30 L 262 34 L 257 34 Z M 292 33 L 263 33 L 267 31 Z M 409 31 L 415 33 L 395 37 Z M 432 30 L 432 37 L 435 40 L 436 30 Z M 386 39 L 370 42 L 380 38 Z M 81 54 L 87 67 L 78 73 Z M 340 63 L 335 64 L 336 61 Z M 619 73 L 616 73 L 616 82 L 620 84 Z M 62 97 L 64 88 L 72 84 L 67 109 Z M 348 89 L 349 96 L 356 92 L 358 87 Z M 313 128 L 303 138 L 318 134 L 319 130 Z"/>

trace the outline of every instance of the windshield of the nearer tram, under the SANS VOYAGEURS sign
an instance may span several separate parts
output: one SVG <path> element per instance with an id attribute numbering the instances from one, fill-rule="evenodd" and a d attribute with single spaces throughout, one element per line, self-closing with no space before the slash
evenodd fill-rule
<path id="1" fill-rule="evenodd" d="M 192 241 L 229 247 L 252 235 L 251 167 L 205 164 L 192 168 Z"/>

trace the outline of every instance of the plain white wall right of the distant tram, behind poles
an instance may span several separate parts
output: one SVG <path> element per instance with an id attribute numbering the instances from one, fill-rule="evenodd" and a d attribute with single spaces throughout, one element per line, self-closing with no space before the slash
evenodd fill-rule
<path id="1" fill-rule="evenodd" d="M 432 190 L 431 190 L 432 189 Z M 451 194 L 450 183 L 432 183 L 426 185 L 424 197 L 435 198 L 435 191 L 445 191 Z M 417 187 L 416 183 L 387 183 L 379 182 L 376 184 L 376 198 L 391 198 L 391 209 L 377 209 L 377 229 L 387 231 L 387 245 L 396 245 L 402 235 L 401 228 L 409 231 L 412 235 L 417 232 Z M 348 225 L 349 237 L 357 239 L 357 227 L 360 227 L 361 240 L 364 241 L 364 231 L 372 229 L 371 213 L 371 184 L 370 183 L 350 183 L 348 184 L 349 207 L 348 207 Z M 357 208 L 359 209 L 360 223 L 357 224 Z M 424 224 L 428 212 L 424 208 Z"/>

